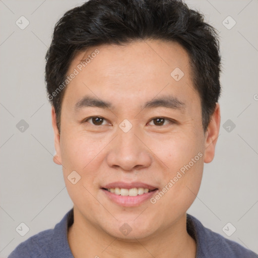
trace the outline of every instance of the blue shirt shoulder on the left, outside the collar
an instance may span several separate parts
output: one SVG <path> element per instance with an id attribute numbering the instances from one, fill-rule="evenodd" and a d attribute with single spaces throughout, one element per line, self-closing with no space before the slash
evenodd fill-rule
<path id="1" fill-rule="evenodd" d="M 52 257 L 53 229 L 47 229 L 20 243 L 8 258 Z"/>

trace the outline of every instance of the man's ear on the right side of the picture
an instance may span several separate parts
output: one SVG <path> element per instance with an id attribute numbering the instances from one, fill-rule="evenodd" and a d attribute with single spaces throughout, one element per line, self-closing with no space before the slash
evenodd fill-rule
<path id="1" fill-rule="evenodd" d="M 215 145 L 219 137 L 220 130 L 220 105 L 216 103 L 215 110 L 212 114 L 211 121 L 205 133 L 205 152 L 204 162 L 210 163 L 215 155 Z"/>

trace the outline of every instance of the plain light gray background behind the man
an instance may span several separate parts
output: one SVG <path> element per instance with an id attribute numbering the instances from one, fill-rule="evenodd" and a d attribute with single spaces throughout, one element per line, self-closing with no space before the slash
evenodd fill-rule
<path id="1" fill-rule="evenodd" d="M 54 24 L 81 3 L 0 0 L 0 257 L 39 231 L 53 228 L 73 206 L 61 166 L 52 161 L 44 56 Z M 186 3 L 220 32 L 223 64 L 216 156 L 205 164 L 200 192 L 188 213 L 258 252 L 257 0 Z M 24 30 L 16 25 L 21 16 L 30 22 Z M 230 30 L 222 23 L 228 16 L 236 21 Z M 232 25 L 232 20 L 226 22 Z M 23 133 L 16 127 L 21 119 L 29 124 Z M 228 122 L 223 127 L 228 119 L 236 125 L 230 132 L 224 128 Z M 16 232 L 21 222 L 29 227 L 25 236 Z M 236 228 L 230 237 L 222 230 L 228 222 Z"/>

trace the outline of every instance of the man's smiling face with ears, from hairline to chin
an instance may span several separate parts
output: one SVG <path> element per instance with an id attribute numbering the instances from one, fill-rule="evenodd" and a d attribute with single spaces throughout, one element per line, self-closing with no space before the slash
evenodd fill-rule
<path id="1" fill-rule="evenodd" d="M 214 157 L 219 105 L 205 133 L 188 55 L 174 42 L 91 48 L 68 75 L 75 69 L 60 136 L 53 109 L 52 121 L 54 161 L 63 166 L 76 216 L 113 237 L 164 233 L 195 200 L 204 162 Z"/>

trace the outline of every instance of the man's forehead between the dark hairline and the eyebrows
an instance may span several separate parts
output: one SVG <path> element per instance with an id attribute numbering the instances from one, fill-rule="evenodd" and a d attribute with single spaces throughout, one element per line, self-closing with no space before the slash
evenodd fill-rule
<path id="1" fill-rule="evenodd" d="M 192 102 L 192 95 L 197 97 L 188 54 L 176 42 L 142 40 L 91 47 L 77 54 L 68 75 L 75 69 L 79 73 L 64 94 L 73 105 L 89 94 L 102 100 L 112 97 L 123 105 L 166 94 L 179 96 L 182 102 Z"/>

